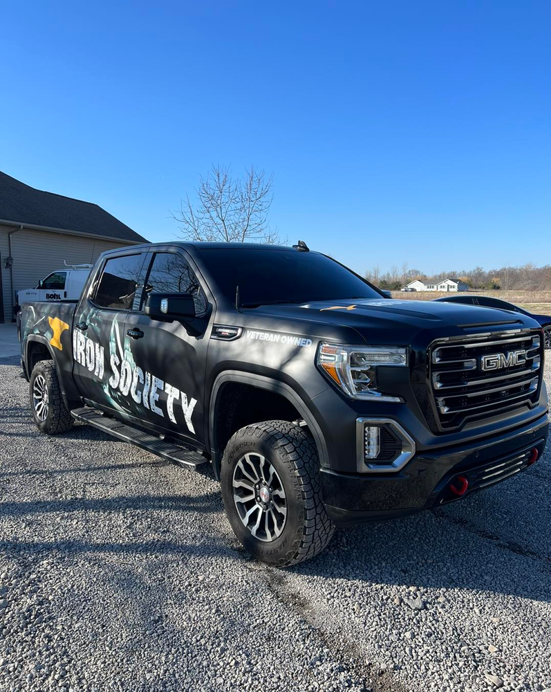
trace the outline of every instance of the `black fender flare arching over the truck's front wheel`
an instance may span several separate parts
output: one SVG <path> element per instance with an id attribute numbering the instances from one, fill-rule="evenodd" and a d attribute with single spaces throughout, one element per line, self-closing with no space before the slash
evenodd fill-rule
<path id="1" fill-rule="evenodd" d="M 214 473 L 216 477 L 219 476 L 220 464 L 222 461 L 221 454 L 218 453 L 218 448 L 216 444 L 215 430 L 216 426 L 214 421 L 216 419 L 216 408 L 218 406 L 218 395 L 220 394 L 221 388 L 227 383 L 240 383 L 247 384 L 257 389 L 268 390 L 269 392 L 274 392 L 279 394 L 281 397 L 287 399 L 292 406 L 294 406 L 299 412 L 301 418 L 306 421 L 308 430 L 312 433 L 312 437 L 316 443 L 317 451 L 319 454 L 319 464 L 322 468 L 330 468 L 329 463 L 329 453 L 326 445 L 326 441 L 321 428 L 317 423 L 317 420 L 312 415 L 312 412 L 306 406 L 306 401 L 301 399 L 297 392 L 290 387 L 290 385 L 281 382 L 279 380 L 273 379 L 272 377 L 267 377 L 265 375 L 259 375 L 251 372 L 243 372 L 242 370 L 224 370 L 214 380 L 212 385 L 212 394 L 209 403 L 209 446 L 212 453 L 212 462 L 214 466 Z"/>

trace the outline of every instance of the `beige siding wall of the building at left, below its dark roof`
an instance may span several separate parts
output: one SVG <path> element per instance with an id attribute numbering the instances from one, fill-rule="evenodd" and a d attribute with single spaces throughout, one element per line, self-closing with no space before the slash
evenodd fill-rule
<path id="1" fill-rule="evenodd" d="M 50 233 L 44 230 L 24 228 L 12 235 L 13 293 L 10 289 L 10 270 L 3 266 L 8 257 L 8 231 L 12 228 L 0 226 L 0 253 L 2 260 L 4 319 L 13 318 L 13 298 L 15 291 L 30 289 L 39 280 L 55 269 L 63 267 L 63 262 L 82 264 L 94 262 L 98 255 L 113 250 L 121 242 L 87 238 L 64 233 Z"/>

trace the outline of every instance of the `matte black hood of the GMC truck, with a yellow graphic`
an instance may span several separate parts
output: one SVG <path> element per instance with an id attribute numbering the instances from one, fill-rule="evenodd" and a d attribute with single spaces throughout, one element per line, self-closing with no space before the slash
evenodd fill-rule
<path id="1" fill-rule="evenodd" d="M 319 336 L 328 336 L 331 327 L 349 327 L 361 334 L 367 343 L 386 341 L 397 345 L 411 343 L 411 338 L 419 331 L 431 332 L 436 338 L 472 333 L 477 327 L 497 330 L 498 327 L 538 326 L 530 318 L 506 310 L 431 300 L 320 300 L 300 305 L 266 305 L 254 312 L 272 318 L 309 322 L 312 336 L 316 331 Z"/>

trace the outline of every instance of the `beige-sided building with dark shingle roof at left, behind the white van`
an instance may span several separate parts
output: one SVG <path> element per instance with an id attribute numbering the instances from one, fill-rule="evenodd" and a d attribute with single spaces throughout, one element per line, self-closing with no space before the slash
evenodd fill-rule
<path id="1" fill-rule="evenodd" d="M 97 204 L 30 188 L 0 172 L 0 322 L 11 322 L 15 291 L 68 264 L 145 243 Z"/>

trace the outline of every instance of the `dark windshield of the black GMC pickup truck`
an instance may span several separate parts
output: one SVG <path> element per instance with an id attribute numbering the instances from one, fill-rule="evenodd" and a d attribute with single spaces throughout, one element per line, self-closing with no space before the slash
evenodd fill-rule
<path id="1" fill-rule="evenodd" d="M 254 307 L 270 303 L 381 298 L 367 282 L 319 253 L 258 248 L 200 251 L 223 295 Z"/>

